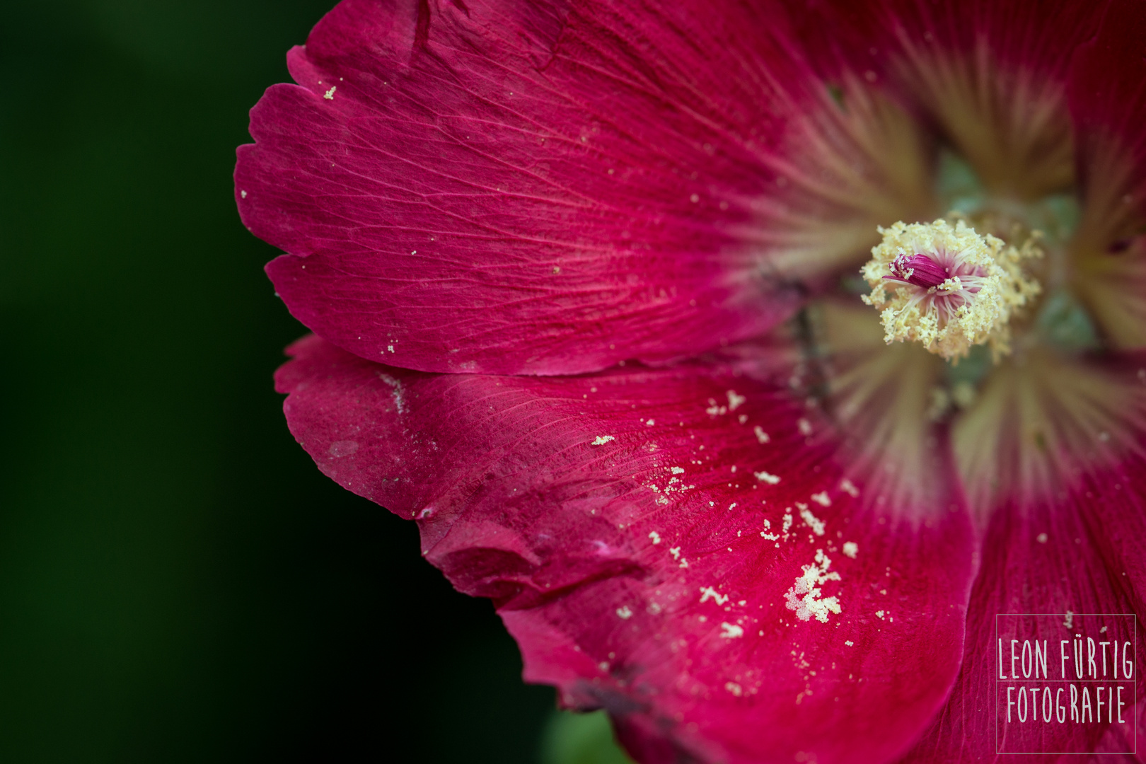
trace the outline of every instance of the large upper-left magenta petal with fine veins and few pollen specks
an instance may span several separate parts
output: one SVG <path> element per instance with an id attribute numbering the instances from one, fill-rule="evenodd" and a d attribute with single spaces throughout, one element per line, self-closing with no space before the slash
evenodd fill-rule
<path id="1" fill-rule="evenodd" d="M 298 318 L 405 368 L 759 334 L 798 299 L 747 238 L 795 108 L 777 84 L 809 77 L 782 31 L 767 5 L 346 0 L 252 110 L 240 212 L 288 252 L 268 273 Z"/>

